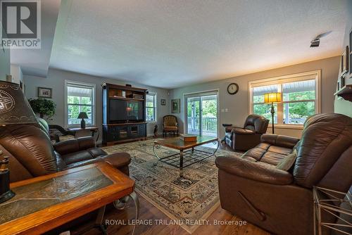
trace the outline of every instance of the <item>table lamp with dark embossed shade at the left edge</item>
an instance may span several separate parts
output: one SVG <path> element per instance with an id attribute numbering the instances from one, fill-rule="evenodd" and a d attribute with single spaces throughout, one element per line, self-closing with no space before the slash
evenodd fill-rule
<path id="1" fill-rule="evenodd" d="M 18 84 L 0 81 L 0 132 L 10 125 L 36 124 L 30 104 L 25 99 Z M 0 158 L 5 149 L 0 145 Z M 15 196 L 10 189 L 10 171 L 8 170 L 8 156 L 0 159 L 0 203 Z"/>

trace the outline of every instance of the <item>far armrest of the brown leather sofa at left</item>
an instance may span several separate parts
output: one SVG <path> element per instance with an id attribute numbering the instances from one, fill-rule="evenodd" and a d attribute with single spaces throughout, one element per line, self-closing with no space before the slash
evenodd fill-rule
<path id="1" fill-rule="evenodd" d="M 86 150 L 88 148 L 94 148 L 96 146 L 96 142 L 94 137 L 87 136 L 61 141 L 54 144 L 53 146 L 56 152 L 60 153 L 61 155 L 65 155 L 68 153 L 75 153 L 77 151 Z"/>

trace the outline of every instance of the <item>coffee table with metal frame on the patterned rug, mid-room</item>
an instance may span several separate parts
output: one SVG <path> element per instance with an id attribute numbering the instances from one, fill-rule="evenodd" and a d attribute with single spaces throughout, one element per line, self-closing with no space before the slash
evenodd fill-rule
<path id="1" fill-rule="evenodd" d="M 195 148 L 196 146 L 201 146 L 203 144 L 208 143 L 217 144 L 213 153 Z M 178 151 L 180 151 L 180 153 L 175 153 L 172 155 L 165 156 L 163 158 L 159 158 L 158 154 L 156 153 L 156 149 L 161 148 L 161 146 L 177 149 Z M 210 158 L 216 153 L 216 151 L 218 151 L 218 148 L 219 141 L 218 138 L 215 137 L 197 136 L 197 141 L 192 142 L 184 142 L 182 141 L 182 139 L 177 137 L 154 141 L 153 153 L 156 158 L 158 158 L 158 162 L 161 161 L 163 163 L 172 165 L 173 167 L 177 167 L 182 170 L 184 167 L 188 167 L 189 165 L 193 165 L 194 163 L 199 163 L 201 160 Z M 156 162 L 154 165 L 157 165 L 158 162 Z"/>

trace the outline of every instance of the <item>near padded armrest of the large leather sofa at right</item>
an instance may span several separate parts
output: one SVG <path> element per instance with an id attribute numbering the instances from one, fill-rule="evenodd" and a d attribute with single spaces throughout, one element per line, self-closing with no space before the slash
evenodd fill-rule
<path id="1" fill-rule="evenodd" d="M 294 177 L 289 172 L 237 157 L 218 156 L 215 164 L 219 170 L 258 182 L 287 185 L 294 181 Z"/>

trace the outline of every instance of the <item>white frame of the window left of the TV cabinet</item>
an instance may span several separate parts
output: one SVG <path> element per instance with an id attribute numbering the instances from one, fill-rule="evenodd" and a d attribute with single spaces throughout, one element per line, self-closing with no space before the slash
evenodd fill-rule
<path id="1" fill-rule="evenodd" d="M 92 127 L 95 125 L 95 120 L 96 120 L 96 108 L 95 108 L 95 92 L 96 92 L 96 86 L 95 84 L 92 83 L 87 83 L 87 82 L 76 82 L 76 81 L 71 81 L 71 80 L 65 80 L 65 127 L 80 127 L 80 124 L 75 124 L 75 125 L 68 125 L 68 86 L 70 84 L 77 84 L 77 85 L 82 85 L 82 86 L 89 86 L 93 87 L 93 92 L 92 92 L 92 124 L 87 124 L 87 127 Z"/>

